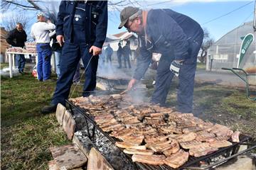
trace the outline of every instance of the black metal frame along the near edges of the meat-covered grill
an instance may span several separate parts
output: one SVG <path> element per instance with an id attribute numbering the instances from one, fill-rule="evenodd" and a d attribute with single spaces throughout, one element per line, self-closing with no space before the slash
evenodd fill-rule
<path id="1" fill-rule="evenodd" d="M 90 138 L 90 140 L 95 141 L 95 128 L 96 128 L 97 130 L 99 130 L 102 133 L 102 135 L 107 137 L 107 139 L 110 140 L 113 145 L 114 145 L 115 142 L 119 141 L 119 140 L 115 139 L 114 137 L 110 137 L 110 135 L 108 135 L 106 132 L 104 132 L 97 125 L 97 123 L 95 123 L 95 121 L 93 120 L 92 115 L 90 115 L 89 111 L 87 111 L 85 108 L 80 108 L 78 106 L 75 106 L 71 101 L 68 101 L 68 100 L 66 100 L 66 103 L 68 103 L 68 106 L 70 107 L 70 111 L 73 115 L 74 115 L 73 110 L 75 109 L 75 111 L 78 111 L 81 115 L 84 116 L 86 129 L 87 129 L 87 135 Z M 89 121 L 92 124 L 92 135 L 90 133 L 90 128 L 88 126 L 87 121 Z M 251 149 L 256 148 L 256 142 L 250 143 L 251 141 L 252 141 L 252 137 L 241 134 L 239 143 L 232 142 L 233 145 L 231 145 L 229 147 L 220 148 L 220 149 L 218 149 L 218 151 L 213 152 L 212 154 L 207 154 L 203 157 L 198 157 L 197 158 L 197 157 L 191 157 L 190 156 L 188 158 L 188 162 L 186 162 L 186 164 L 183 164 L 183 166 L 179 167 L 178 169 L 204 170 L 204 169 L 212 169 L 213 167 L 220 166 L 221 164 L 227 162 L 228 160 L 233 159 L 234 157 L 238 157 L 240 154 L 244 154 L 245 152 L 249 152 Z M 247 145 L 247 146 L 251 146 L 251 147 L 249 147 L 248 149 L 245 149 L 244 151 L 238 153 L 240 145 Z M 119 148 L 119 149 L 121 149 L 121 148 Z M 132 159 L 131 159 L 132 156 L 129 155 L 129 154 L 125 154 L 125 155 L 129 158 L 129 161 L 133 164 L 134 162 L 132 162 Z M 213 158 L 219 157 L 220 155 L 224 155 L 225 159 L 221 159 L 220 161 L 214 162 L 213 164 L 210 164 L 210 165 L 205 166 L 205 167 L 195 166 L 195 165 L 199 164 L 199 162 L 201 162 L 201 161 L 206 161 L 207 162 L 208 159 L 213 159 Z M 137 164 L 139 169 L 143 169 L 143 170 L 144 169 L 145 170 L 146 169 L 149 169 L 149 170 L 174 170 L 173 168 L 171 168 L 170 166 L 167 166 L 166 164 L 160 165 L 160 166 L 144 164 L 144 163 L 140 163 L 140 162 L 135 162 L 135 164 Z"/>

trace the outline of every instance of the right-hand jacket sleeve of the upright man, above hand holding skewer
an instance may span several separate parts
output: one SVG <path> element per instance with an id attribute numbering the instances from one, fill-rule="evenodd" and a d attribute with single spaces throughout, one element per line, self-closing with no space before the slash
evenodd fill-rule
<path id="1" fill-rule="evenodd" d="M 93 43 L 94 46 L 102 48 L 107 34 L 107 1 L 99 1 L 101 13 L 96 26 L 95 35 L 96 39 Z"/>

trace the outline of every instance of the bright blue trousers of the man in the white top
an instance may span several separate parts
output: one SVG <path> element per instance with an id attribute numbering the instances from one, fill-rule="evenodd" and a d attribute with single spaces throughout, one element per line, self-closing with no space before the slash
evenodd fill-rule
<path id="1" fill-rule="evenodd" d="M 38 52 L 38 80 L 45 81 L 50 79 L 50 57 L 52 55 L 52 50 L 48 43 L 37 44 L 36 50 Z"/>

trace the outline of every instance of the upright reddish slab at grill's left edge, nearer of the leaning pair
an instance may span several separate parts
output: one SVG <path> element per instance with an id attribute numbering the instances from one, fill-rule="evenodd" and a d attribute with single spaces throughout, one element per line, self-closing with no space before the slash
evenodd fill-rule
<path id="1" fill-rule="evenodd" d="M 68 139 L 72 140 L 75 132 L 75 120 L 69 111 L 65 111 L 63 116 L 63 130 L 67 134 Z"/>

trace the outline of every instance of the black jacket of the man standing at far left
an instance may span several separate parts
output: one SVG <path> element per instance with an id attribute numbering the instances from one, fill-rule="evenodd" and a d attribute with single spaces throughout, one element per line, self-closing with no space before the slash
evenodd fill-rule
<path id="1" fill-rule="evenodd" d="M 19 32 L 16 28 L 14 30 L 11 30 L 9 32 L 8 37 L 6 38 L 6 41 L 9 43 L 9 45 L 13 47 L 24 47 L 26 42 L 26 32 L 23 30 L 22 32 Z"/>

